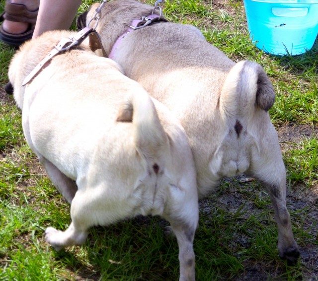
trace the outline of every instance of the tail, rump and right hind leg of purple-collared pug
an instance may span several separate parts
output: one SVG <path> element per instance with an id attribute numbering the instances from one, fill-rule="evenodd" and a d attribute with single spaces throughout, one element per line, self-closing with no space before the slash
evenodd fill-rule
<path id="1" fill-rule="evenodd" d="M 243 61 L 230 70 L 219 101 L 220 123 L 227 130 L 209 168 L 215 177 L 246 173 L 264 185 L 275 211 L 279 255 L 296 262 L 299 250 L 286 208 L 286 171 L 268 114 L 274 101 L 273 86 L 261 66 Z"/>

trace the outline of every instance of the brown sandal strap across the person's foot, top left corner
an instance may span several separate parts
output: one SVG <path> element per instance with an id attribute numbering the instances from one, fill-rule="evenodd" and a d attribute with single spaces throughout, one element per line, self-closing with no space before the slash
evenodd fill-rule
<path id="1" fill-rule="evenodd" d="M 26 22 L 30 23 L 32 26 L 35 26 L 39 8 L 34 11 L 30 11 L 23 4 L 11 3 L 6 0 L 4 11 L 4 19 L 15 22 Z"/>

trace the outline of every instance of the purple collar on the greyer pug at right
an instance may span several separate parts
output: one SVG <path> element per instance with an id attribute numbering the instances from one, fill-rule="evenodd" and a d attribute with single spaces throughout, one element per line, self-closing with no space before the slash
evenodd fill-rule
<path id="1" fill-rule="evenodd" d="M 161 15 L 158 14 L 151 14 L 149 16 L 142 16 L 140 19 L 133 19 L 132 22 L 130 23 L 130 25 L 128 25 L 127 29 L 125 30 L 125 32 L 120 35 L 113 48 L 111 49 L 108 58 L 109 59 L 114 59 L 115 53 L 118 49 L 118 46 L 121 44 L 121 42 L 123 41 L 123 39 L 132 31 L 143 28 L 147 25 L 150 25 L 152 23 L 156 23 L 159 21 L 167 21 L 165 18 L 162 18 Z"/>

